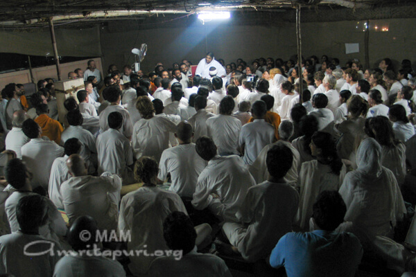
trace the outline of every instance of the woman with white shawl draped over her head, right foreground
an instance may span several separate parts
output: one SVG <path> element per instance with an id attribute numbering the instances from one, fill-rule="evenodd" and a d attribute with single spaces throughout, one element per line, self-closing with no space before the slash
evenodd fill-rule
<path id="1" fill-rule="evenodd" d="M 375 139 L 363 140 L 356 155 L 358 168 L 345 175 L 339 190 L 347 213 L 337 231 L 351 231 L 364 247 L 376 235 L 392 238 L 397 220 L 406 213 L 395 175 L 381 165 L 381 156 Z"/>

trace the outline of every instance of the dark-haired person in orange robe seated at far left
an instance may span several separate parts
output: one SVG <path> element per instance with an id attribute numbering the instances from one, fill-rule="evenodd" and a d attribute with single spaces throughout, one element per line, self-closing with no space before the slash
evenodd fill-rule
<path id="1" fill-rule="evenodd" d="M 60 136 L 64 128 L 58 120 L 54 120 L 48 116 L 49 108 L 46 104 L 40 104 L 36 107 L 37 118 L 35 123 L 42 128 L 42 135 L 47 136 L 51 141 L 60 144 Z"/>

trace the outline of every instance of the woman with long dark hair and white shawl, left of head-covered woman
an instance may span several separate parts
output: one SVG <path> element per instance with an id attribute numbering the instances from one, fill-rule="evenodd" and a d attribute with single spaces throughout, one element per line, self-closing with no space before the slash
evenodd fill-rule
<path id="1" fill-rule="evenodd" d="M 300 186 L 299 210 L 296 222 L 301 229 L 309 230 L 309 219 L 316 197 L 324 190 L 339 190 L 347 168 L 338 157 L 331 134 L 315 132 L 311 153 L 315 160 L 302 163 L 298 185 Z"/>

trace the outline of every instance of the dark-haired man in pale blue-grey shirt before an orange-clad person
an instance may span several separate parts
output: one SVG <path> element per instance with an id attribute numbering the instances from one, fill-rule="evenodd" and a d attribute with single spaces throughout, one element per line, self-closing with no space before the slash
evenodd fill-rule
<path id="1" fill-rule="evenodd" d="M 257 100 L 253 103 L 251 113 L 254 121 L 241 127 L 239 136 L 240 150 L 244 153 L 243 161 L 251 165 L 257 159 L 261 150 L 275 141 L 275 127 L 264 120 L 266 103 Z"/>

